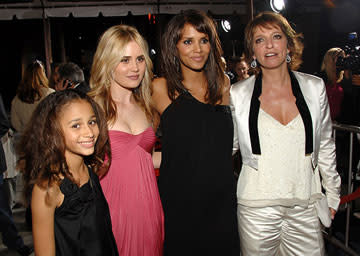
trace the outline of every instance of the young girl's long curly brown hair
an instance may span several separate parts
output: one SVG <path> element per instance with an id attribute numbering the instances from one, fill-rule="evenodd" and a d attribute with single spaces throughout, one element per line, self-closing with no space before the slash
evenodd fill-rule
<path id="1" fill-rule="evenodd" d="M 111 152 L 107 123 L 101 108 L 89 96 L 76 90 L 54 92 L 36 107 L 17 145 L 17 167 L 23 173 L 26 198 L 31 197 L 35 184 L 46 188 L 59 185 L 64 177 L 74 181 L 65 159 L 65 139 L 59 119 L 64 106 L 76 101 L 91 105 L 99 127 L 94 153 L 84 157 L 85 163 L 99 176 L 106 174 Z M 109 159 L 106 163 L 105 156 Z"/>

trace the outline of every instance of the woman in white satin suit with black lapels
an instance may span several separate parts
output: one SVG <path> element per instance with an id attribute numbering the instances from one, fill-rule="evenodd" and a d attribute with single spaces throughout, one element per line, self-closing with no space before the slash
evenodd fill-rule
<path id="1" fill-rule="evenodd" d="M 302 50 L 301 35 L 280 14 L 260 13 L 245 29 L 245 55 L 257 74 L 231 88 L 234 150 L 243 160 L 237 197 L 245 256 L 324 255 L 318 216 L 328 215 L 322 219 L 328 225 L 339 205 L 325 85 L 293 71 Z"/>

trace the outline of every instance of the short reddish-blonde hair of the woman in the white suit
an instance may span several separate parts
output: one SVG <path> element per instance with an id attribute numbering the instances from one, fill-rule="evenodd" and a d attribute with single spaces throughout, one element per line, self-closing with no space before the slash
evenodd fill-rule
<path id="1" fill-rule="evenodd" d="M 291 70 L 299 69 L 302 63 L 302 53 L 304 50 L 303 35 L 296 33 L 291 27 L 287 19 L 279 13 L 275 12 L 261 12 L 252 21 L 250 21 L 245 28 L 245 39 L 244 39 L 244 53 L 248 63 L 253 60 L 254 56 L 254 33 L 259 27 L 271 28 L 279 27 L 285 34 L 288 48 L 290 50 L 289 55 L 291 62 L 288 63 L 288 67 Z M 259 73 L 260 68 L 252 68 L 252 72 Z"/>

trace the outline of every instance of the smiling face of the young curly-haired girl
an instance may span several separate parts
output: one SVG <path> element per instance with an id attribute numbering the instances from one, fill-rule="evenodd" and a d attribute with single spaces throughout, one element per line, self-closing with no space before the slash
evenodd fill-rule
<path id="1" fill-rule="evenodd" d="M 75 100 L 65 105 L 59 124 L 65 139 L 67 162 L 94 153 L 99 127 L 92 106 L 87 101 Z"/>

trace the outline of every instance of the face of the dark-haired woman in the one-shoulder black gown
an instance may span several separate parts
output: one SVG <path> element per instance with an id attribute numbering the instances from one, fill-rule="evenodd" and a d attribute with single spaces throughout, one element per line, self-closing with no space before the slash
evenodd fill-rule
<path id="1" fill-rule="evenodd" d="M 200 71 L 209 57 L 211 46 L 208 35 L 198 32 L 190 24 L 185 24 L 176 48 L 182 70 Z"/>

